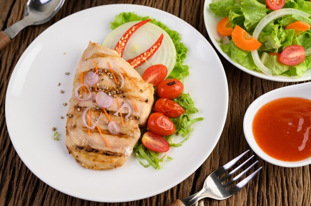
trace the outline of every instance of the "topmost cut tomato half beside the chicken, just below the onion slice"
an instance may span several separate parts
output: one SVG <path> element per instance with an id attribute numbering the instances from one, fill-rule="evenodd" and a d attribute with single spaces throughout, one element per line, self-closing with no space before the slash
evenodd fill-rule
<path id="1" fill-rule="evenodd" d="M 144 74 L 143 79 L 145 82 L 151 83 L 156 87 L 167 75 L 167 67 L 163 64 L 155 64 L 148 67 Z"/>

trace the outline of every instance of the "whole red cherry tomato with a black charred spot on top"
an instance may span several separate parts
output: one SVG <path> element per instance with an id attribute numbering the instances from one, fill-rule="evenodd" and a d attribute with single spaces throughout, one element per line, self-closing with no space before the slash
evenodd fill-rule
<path id="1" fill-rule="evenodd" d="M 159 98 L 174 99 L 181 95 L 184 85 L 178 79 L 165 79 L 156 88 Z"/>

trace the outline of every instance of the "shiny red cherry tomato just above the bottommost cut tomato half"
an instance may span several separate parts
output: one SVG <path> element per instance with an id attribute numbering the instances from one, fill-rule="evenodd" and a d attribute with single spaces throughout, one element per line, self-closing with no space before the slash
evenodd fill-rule
<path id="1" fill-rule="evenodd" d="M 176 131 L 174 123 L 159 112 L 155 112 L 149 116 L 147 126 L 150 131 L 162 136 L 172 135 Z"/>

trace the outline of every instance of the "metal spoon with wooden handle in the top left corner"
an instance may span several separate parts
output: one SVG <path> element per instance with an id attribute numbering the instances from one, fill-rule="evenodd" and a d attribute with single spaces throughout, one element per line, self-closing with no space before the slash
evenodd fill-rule
<path id="1" fill-rule="evenodd" d="M 65 0 L 28 0 L 25 17 L 0 32 L 0 50 L 6 47 L 22 29 L 49 21 L 63 6 Z"/>

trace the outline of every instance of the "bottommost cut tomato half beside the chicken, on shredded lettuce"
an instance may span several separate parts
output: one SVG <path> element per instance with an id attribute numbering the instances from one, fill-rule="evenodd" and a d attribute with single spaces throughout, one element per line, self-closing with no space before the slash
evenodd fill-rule
<path id="1" fill-rule="evenodd" d="M 149 150 L 165 153 L 169 150 L 168 142 L 160 135 L 146 132 L 142 138 L 143 145 Z"/>

